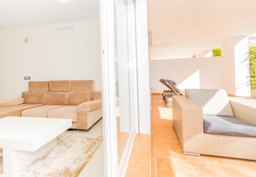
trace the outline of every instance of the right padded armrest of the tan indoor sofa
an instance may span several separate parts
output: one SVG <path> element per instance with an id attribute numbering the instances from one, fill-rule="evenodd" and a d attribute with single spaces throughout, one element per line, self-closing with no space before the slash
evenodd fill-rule
<path id="1" fill-rule="evenodd" d="M 76 111 L 90 112 L 102 107 L 102 99 L 95 99 L 93 101 L 87 101 L 77 106 Z"/>

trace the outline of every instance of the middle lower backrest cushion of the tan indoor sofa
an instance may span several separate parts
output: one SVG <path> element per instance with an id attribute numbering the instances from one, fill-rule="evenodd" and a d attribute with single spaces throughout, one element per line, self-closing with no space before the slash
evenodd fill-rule
<path id="1" fill-rule="evenodd" d="M 45 95 L 45 105 L 67 105 L 69 92 L 47 92 Z"/>

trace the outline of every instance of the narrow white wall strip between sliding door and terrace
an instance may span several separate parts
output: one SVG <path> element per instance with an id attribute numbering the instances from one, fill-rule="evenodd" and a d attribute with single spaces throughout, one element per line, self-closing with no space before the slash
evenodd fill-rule
<path id="1" fill-rule="evenodd" d="M 139 133 L 150 134 L 150 75 L 148 56 L 147 0 L 136 1 Z"/>

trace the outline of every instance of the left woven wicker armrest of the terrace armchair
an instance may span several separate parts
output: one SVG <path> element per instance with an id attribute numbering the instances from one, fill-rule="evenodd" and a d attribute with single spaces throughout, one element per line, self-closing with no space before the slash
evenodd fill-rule
<path id="1" fill-rule="evenodd" d="M 173 96 L 173 126 L 182 138 L 186 133 L 203 133 L 202 108 L 186 96 Z"/>

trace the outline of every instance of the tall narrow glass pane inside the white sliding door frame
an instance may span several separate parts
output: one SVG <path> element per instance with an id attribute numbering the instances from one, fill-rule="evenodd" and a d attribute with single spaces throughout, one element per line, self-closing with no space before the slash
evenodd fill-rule
<path id="1" fill-rule="evenodd" d="M 131 91 L 127 4 L 114 0 L 117 145 L 120 161 L 131 132 Z"/>

